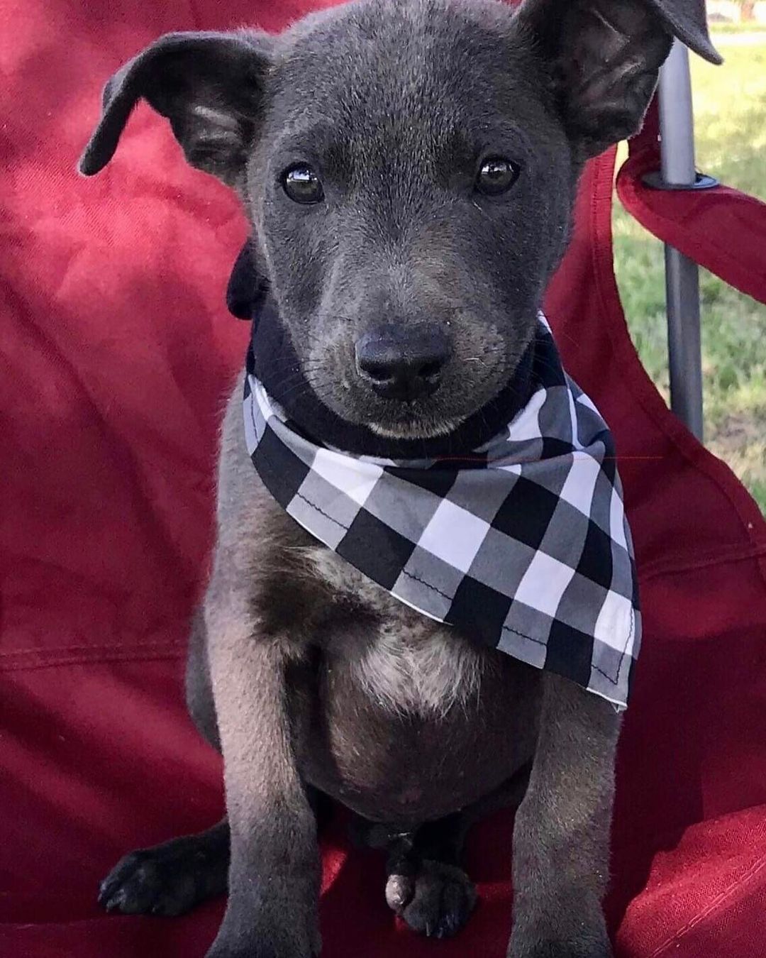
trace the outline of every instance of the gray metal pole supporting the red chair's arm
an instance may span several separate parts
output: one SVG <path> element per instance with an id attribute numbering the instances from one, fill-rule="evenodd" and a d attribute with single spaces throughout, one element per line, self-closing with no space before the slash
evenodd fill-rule
<path id="1" fill-rule="evenodd" d="M 665 189 L 697 182 L 694 165 L 694 114 L 687 48 L 676 40 L 660 74 L 662 179 Z M 699 269 L 683 253 L 665 245 L 667 348 L 670 408 L 700 441 L 703 438 L 702 341 Z"/>

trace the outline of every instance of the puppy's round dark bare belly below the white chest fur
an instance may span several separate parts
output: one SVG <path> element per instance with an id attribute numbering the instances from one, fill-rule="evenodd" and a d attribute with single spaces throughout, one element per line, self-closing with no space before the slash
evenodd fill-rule
<path id="1" fill-rule="evenodd" d="M 435 670 L 439 663 L 427 651 L 419 666 Z M 455 680 L 467 687 L 441 707 L 433 674 L 421 676 L 421 701 L 405 682 L 394 703 L 374 694 L 357 662 L 325 658 L 304 696 L 305 780 L 365 818 L 402 828 L 461 810 L 501 786 L 532 754 L 539 673 L 502 652 L 471 654 L 476 673 L 461 674 L 458 665 Z M 417 656 L 411 665 L 418 667 Z M 384 683 L 383 691 L 393 689 Z"/>

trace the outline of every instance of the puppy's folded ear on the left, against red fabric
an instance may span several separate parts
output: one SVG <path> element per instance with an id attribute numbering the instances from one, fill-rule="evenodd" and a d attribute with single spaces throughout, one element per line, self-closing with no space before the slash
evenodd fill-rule
<path id="1" fill-rule="evenodd" d="M 245 31 L 161 37 L 106 83 L 79 171 L 90 176 L 106 166 L 144 98 L 169 119 L 191 166 L 235 185 L 259 122 L 272 43 L 268 34 Z"/>

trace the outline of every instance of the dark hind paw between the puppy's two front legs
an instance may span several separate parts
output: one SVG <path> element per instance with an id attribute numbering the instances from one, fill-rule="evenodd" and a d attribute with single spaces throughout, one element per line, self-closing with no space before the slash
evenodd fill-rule
<path id="1" fill-rule="evenodd" d="M 451 938 L 473 911 L 476 886 L 460 868 L 424 859 L 415 876 L 389 876 L 386 901 L 413 931 Z"/>

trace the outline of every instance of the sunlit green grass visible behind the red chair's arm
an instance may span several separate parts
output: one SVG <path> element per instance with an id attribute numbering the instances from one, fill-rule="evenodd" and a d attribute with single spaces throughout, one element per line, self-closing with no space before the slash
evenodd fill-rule
<path id="1" fill-rule="evenodd" d="M 693 57 L 697 167 L 766 200 L 766 33 L 713 32 L 726 62 Z M 668 398 L 663 246 L 615 203 L 615 262 L 642 362 Z M 766 258 L 766 250 L 764 250 Z M 766 307 L 700 273 L 705 442 L 766 513 Z"/>

